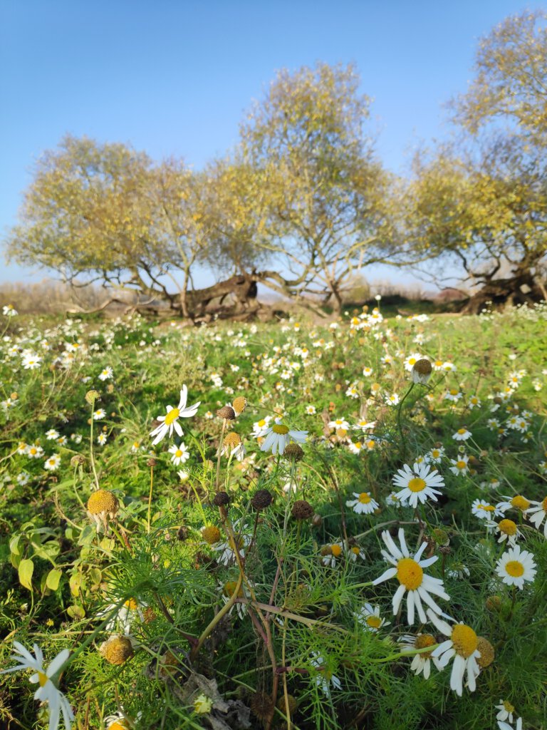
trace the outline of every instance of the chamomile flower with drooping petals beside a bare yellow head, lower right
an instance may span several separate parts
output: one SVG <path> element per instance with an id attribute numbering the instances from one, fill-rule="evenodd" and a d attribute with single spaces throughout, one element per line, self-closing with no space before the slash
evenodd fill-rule
<path id="1" fill-rule="evenodd" d="M 450 675 L 451 690 L 461 697 L 463 678 L 467 675 L 469 691 L 474 692 L 476 690 L 476 678 L 481 671 L 477 663 L 477 659 L 481 657 L 481 652 L 478 650 L 477 634 L 465 623 L 456 623 L 451 626 L 429 608 L 427 609 L 427 616 L 438 631 L 449 637 L 436 649 L 432 650 L 431 656 L 438 658 L 441 669 L 444 669 L 449 661 L 454 658 Z"/>

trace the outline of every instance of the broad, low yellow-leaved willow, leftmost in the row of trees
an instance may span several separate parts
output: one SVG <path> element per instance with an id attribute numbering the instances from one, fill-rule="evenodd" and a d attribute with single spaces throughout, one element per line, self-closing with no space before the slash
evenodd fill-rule
<path id="1" fill-rule="evenodd" d="M 185 315 L 210 231 L 206 176 L 119 144 L 66 137 L 40 158 L 8 255 L 166 301 Z M 191 300 L 191 301 L 190 301 Z M 201 306 L 201 305 L 200 305 Z M 191 307 L 190 307 L 191 309 Z"/>

